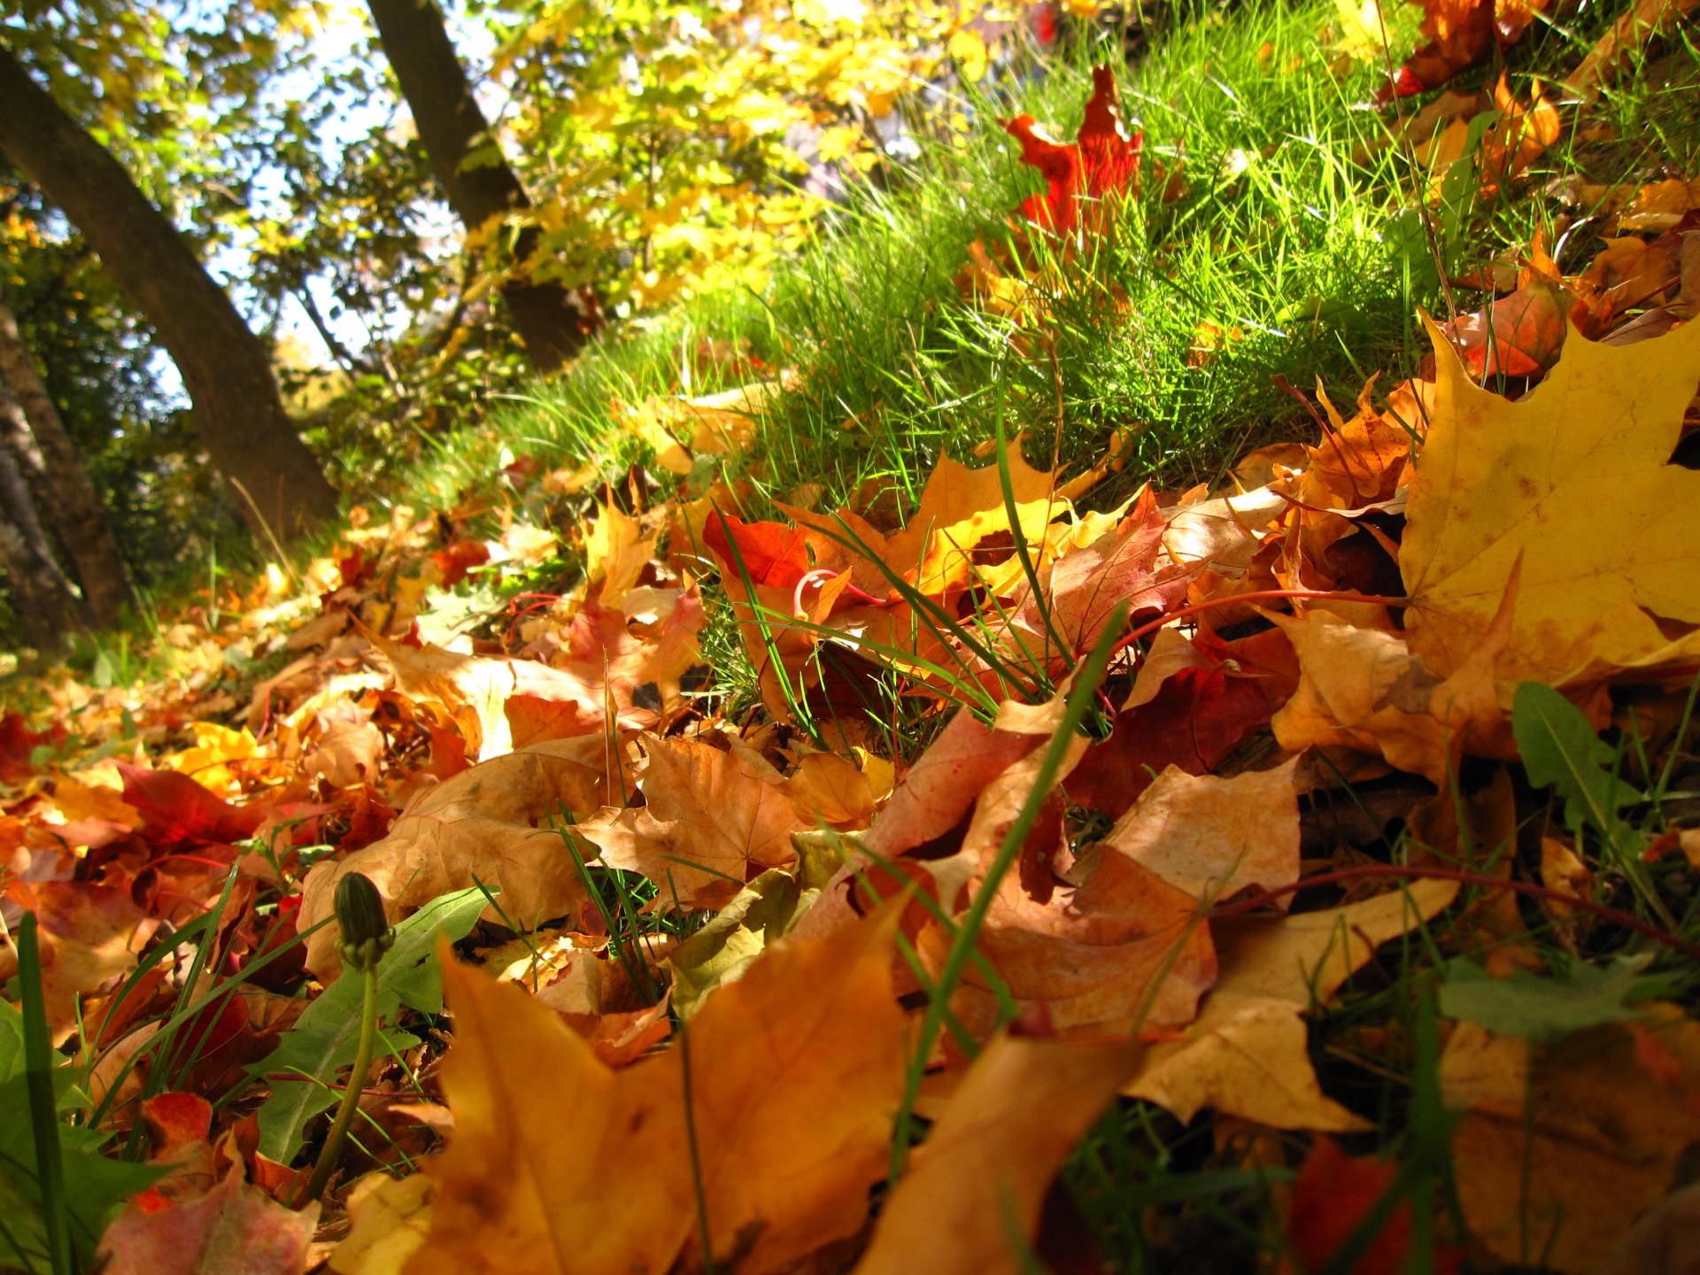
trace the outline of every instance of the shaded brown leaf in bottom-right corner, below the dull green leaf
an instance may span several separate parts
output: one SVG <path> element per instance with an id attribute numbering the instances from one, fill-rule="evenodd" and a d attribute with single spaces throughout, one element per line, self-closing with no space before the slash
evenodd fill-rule
<path id="1" fill-rule="evenodd" d="M 1637 1034 L 1612 1023 L 1556 1046 L 1459 1023 L 1440 1056 L 1459 1200 L 1498 1258 L 1593 1270 L 1678 1180 L 1700 1141 L 1700 1023 L 1671 1005 L 1640 1025 L 1671 1064 L 1642 1066 Z"/>

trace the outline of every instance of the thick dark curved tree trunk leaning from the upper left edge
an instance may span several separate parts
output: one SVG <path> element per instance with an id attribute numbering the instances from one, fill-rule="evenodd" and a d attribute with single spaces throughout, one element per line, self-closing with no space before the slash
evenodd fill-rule
<path id="1" fill-rule="evenodd" d="M 0 150 L 70 218 L 184 376 L 201 442 L 257 530 L 337 513 L 337 491 L 284 410 L 272 360 L 172 221 L 0 46 Z"/>

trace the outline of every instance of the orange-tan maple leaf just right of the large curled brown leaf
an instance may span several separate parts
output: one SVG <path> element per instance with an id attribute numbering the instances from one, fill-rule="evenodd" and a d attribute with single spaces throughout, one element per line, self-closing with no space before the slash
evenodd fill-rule
<path id="1" fill-rule="evenodd" d="M 770 867 L 796 862 L 785 780 L 748 750 L 643 736 L 636 784 L 646 806 L 580 828 L 610 867 L 643 872 L 663 908 L 717 908 Z"/>

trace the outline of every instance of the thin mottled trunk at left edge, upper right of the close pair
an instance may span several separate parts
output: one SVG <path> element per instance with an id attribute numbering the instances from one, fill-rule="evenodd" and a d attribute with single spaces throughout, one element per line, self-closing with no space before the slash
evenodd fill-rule
<path id="1" fill-rule="evenodd" d="M 14 452 L 36 469 L 26 473 L 26 481 L 36 493 L 37 508 L 53 510 L 53 534 L 71 556 L 95 624 L 117 624 L 124 607 L 134 600 L 129 580 L 124 578 L 124 556 L 117 549 L 100 493 L 88 481 L 83 456 L 65 432 L 60 410 L 41 382 L 36 360 L 17 330 L 17 318 L 3 301 L 0 430 L 15 437 Z"/>

